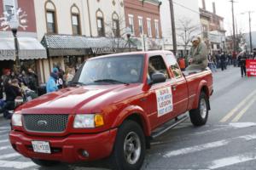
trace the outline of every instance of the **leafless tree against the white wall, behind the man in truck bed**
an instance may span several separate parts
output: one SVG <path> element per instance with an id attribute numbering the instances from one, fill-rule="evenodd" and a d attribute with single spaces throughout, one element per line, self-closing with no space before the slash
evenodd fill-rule
<path id="1" fill-rule="evenodd" d="M 179 20 L 177 25 L 177 37 L 182 40 L 182 42 L 179 42 L 179 45 L 184 47 L 185 52 L 187 51 L 189 42 L 191 42 L 196 32 L 200 29 L 200 27 L 194 25 L 192 21 L 193 20 L 190 20 L 189 18 L 183 18 L 183 20 Z"/>

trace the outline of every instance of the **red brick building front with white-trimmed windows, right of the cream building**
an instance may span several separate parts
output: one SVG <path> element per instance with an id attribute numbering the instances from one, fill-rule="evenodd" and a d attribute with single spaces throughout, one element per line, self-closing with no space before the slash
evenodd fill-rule
<path id="1" fill-rule="evenodd" d="M 160 1 L 125 0 L 125 24 L 140 50 L 162 48 Z"/>

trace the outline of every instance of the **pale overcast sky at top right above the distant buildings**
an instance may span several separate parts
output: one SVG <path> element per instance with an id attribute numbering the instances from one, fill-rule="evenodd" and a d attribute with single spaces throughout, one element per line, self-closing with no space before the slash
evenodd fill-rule
<path id="1" fill-rule="evenodd" d="M 227 31 L 227 35 L 230 35 L 232 31 L 232 13 L 230 0 L 205 0 L 207 10 L 212 12 L 212 2 L 215 2 L 216 13 L 224 17 L 224 28 Z M 256 31 L 256 0 L 234 0 L 234 11 L 237 22 L 238 31 L 246 33 L 249 31 L 249 16 L 247 14 L 241 14 L 247 11 L 254 11 L 251 14 L 252 19 L 252 31 Z M 202 7 L 202 0 L 198 0 L 199 7 Z"/>

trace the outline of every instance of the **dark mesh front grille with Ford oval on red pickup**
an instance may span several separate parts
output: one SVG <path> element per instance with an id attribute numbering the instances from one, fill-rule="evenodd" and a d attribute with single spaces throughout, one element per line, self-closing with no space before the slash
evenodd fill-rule
<path id="1" fill-rule="evenodd" d="M 27 131 L 61 133 L 67 127 L 68 115 L 23 115 Z"/>

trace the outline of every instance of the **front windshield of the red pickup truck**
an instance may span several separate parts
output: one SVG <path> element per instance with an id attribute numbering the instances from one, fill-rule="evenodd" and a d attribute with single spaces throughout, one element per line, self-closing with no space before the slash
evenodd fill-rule
<path id="1" fill-rule="evenodd" d="M 103 85 L 142 82 L 143 55 L 91 59 L 81 69 L 79 78 L 74 83 Z"/>

